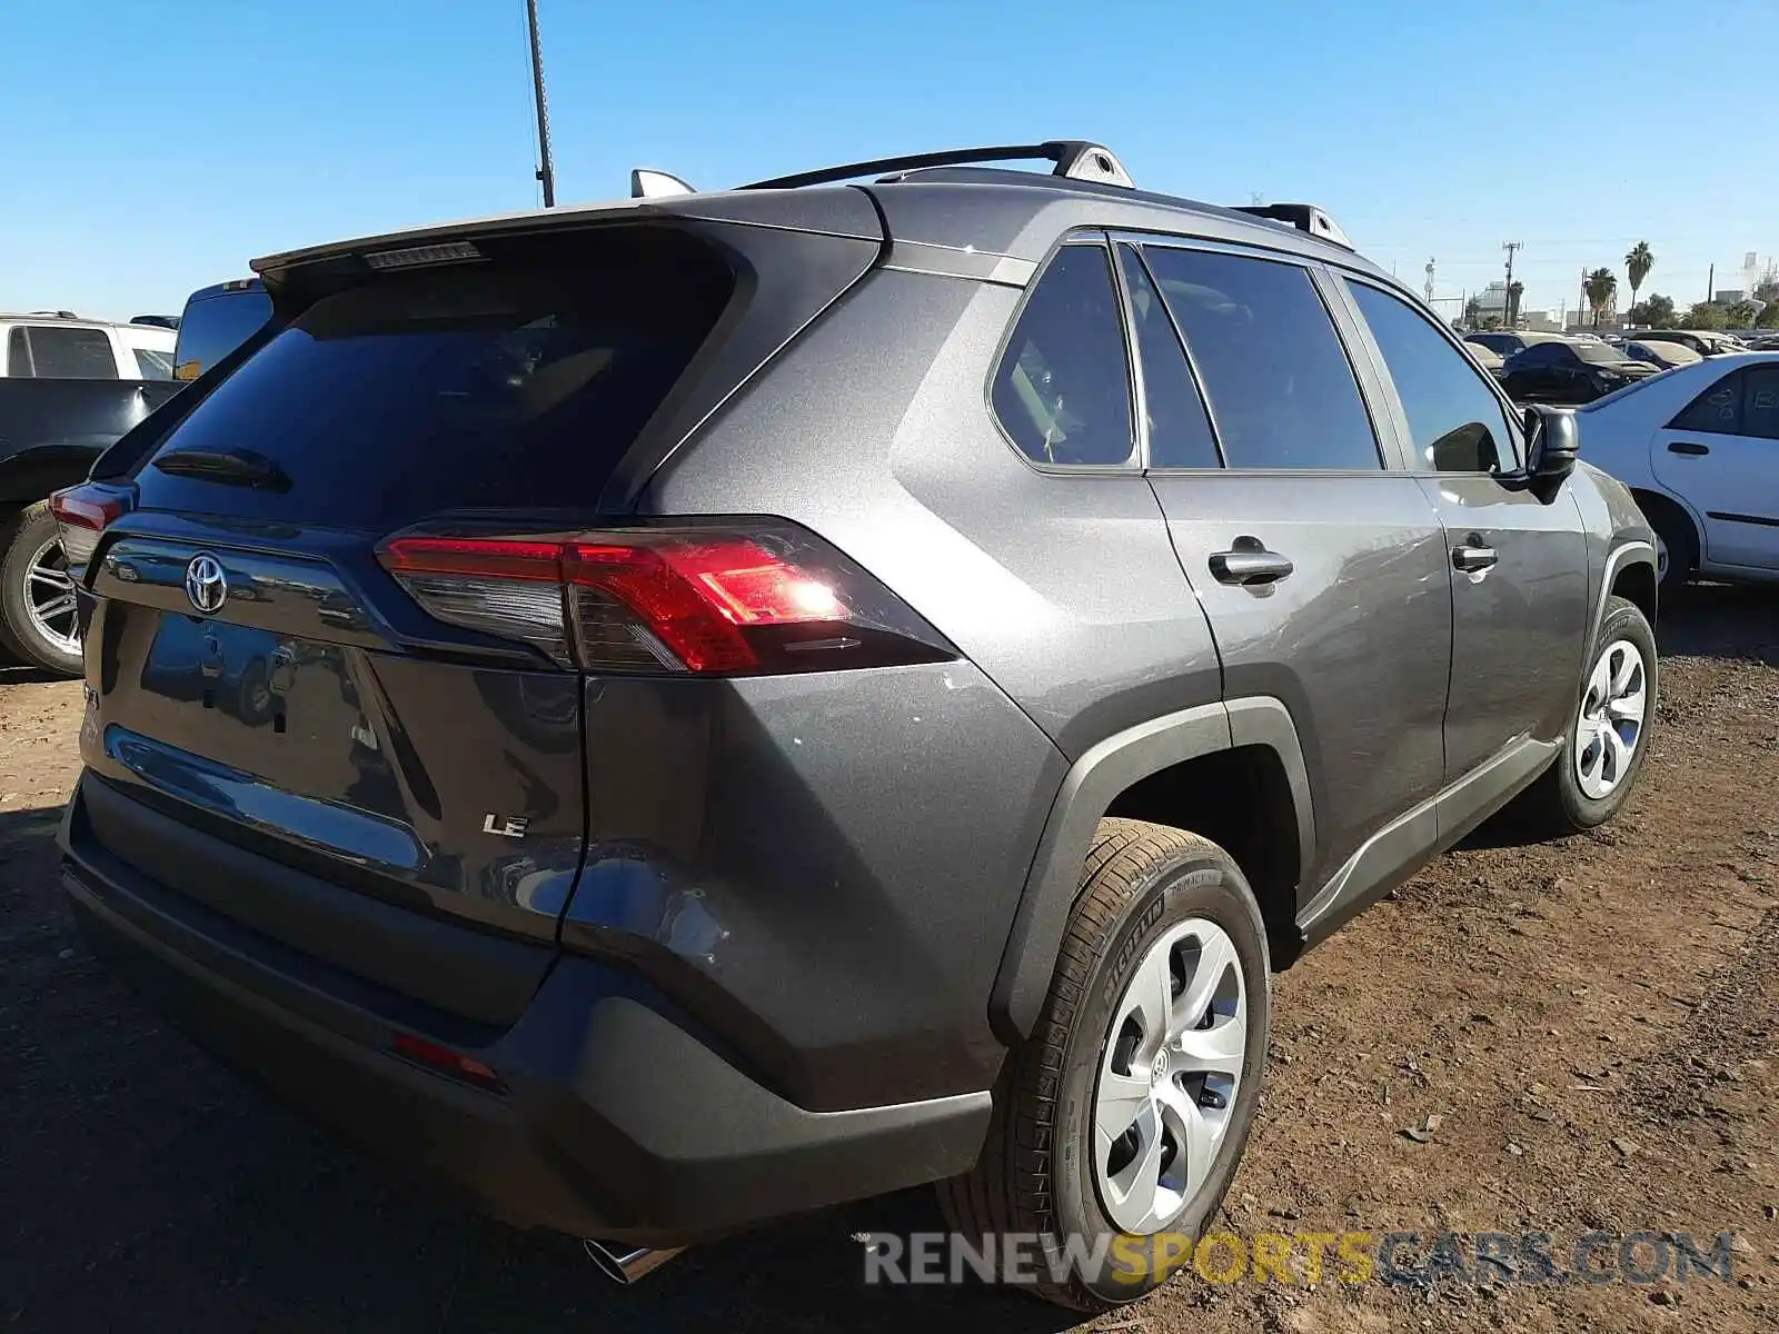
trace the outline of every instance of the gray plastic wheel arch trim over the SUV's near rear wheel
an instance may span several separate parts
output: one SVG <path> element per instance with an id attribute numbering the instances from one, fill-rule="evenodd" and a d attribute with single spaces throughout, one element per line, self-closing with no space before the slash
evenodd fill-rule
<path id="1" fill-rule="evenodd" d="M 1295 808 L 1299 875 L 1308 873 L 1316 845 L 1309 770 L 1281 701 L 1258 695 L 1199 704 L 1107 736 L 1069 767 L 1044 820 L 989 996 L 989 1021 L 1003 1042 L 1021 1042 L 1037 1025 L 1080 893 L 1082 864 L 1117 795 L 1171 765 L 1236 745 L 1263 745 L 1277 756 Z"/>

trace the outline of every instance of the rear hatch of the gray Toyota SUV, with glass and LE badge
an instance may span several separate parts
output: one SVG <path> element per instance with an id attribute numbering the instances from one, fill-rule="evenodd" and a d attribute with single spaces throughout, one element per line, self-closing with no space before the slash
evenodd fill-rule
<path id="1" fill-rule="evenodd" d="M 450 583 L 431 557 L 395 569 L 416 539 L 391 535 L 608 528 L 624 468 L 646 477 L 879 249 L 658 217 L 530 226 L 279 270 L 283 327 L 114 464 L 101 489 L 126 512 L 87 535 L 82 751 L 101 784 L 80 836 L 491 1023 L 553 957 L 584 763 L 621 758 L 584 761 L 585 662 L 528 630 L 550 596 L 564 615 L 560 592 L 525 571 Z M 815 261 L 767 299 L 786 244 Z M 208 863 L 192 832 L 217 840 Z M 393 968 L 375 948 L 391 909 L 507 937 L 507 980 L 466 989 L 443 946 Z"/>

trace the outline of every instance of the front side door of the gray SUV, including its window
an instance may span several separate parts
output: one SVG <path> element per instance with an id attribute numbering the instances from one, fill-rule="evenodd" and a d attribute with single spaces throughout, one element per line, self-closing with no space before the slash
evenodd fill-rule
<path id="1" fill-rule="evenodd" d="M 1551 742 L 1569 726 L 1590 612 L 1582 514 L 1567 489 L 1542 503 L 1509 482 L 1519 432 L 1434 320 L 1356 276 L 1345 292 L 1395 388 L 1414 477 L 1450 546 L 1445 775 L 1457 783 L 1525 738 Z"/>

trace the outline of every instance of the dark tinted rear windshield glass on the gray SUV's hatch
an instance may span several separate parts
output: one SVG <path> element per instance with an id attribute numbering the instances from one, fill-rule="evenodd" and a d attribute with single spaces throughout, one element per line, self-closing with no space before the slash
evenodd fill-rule
<path id="1" fill-rule="evenodd" d="M 144 503 L 379 530 L 461 507 L 592 505 L 733 290 L 708 247 L 656 235 L 318 299 L 158 448 L 251 450 L 288 486 L 174 477 L 151 459 Z"/>

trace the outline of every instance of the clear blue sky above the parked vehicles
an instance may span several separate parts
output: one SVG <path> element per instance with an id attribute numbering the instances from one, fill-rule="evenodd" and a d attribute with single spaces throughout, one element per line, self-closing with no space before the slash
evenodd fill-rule
<path id="1" fill-rule="evenodd" d="M 541 11 L 560 201 L 1091 137 L 1151 189 L 1320 203 L 1441 297 L 1503 240 L 1551 309 L 1637 240 L 1681 304 L 1779 253 L 1779 0 Z M 0 309 L 176 311 L 256 254 L 537 203 L 523 0 L 0 0 Z"/>

